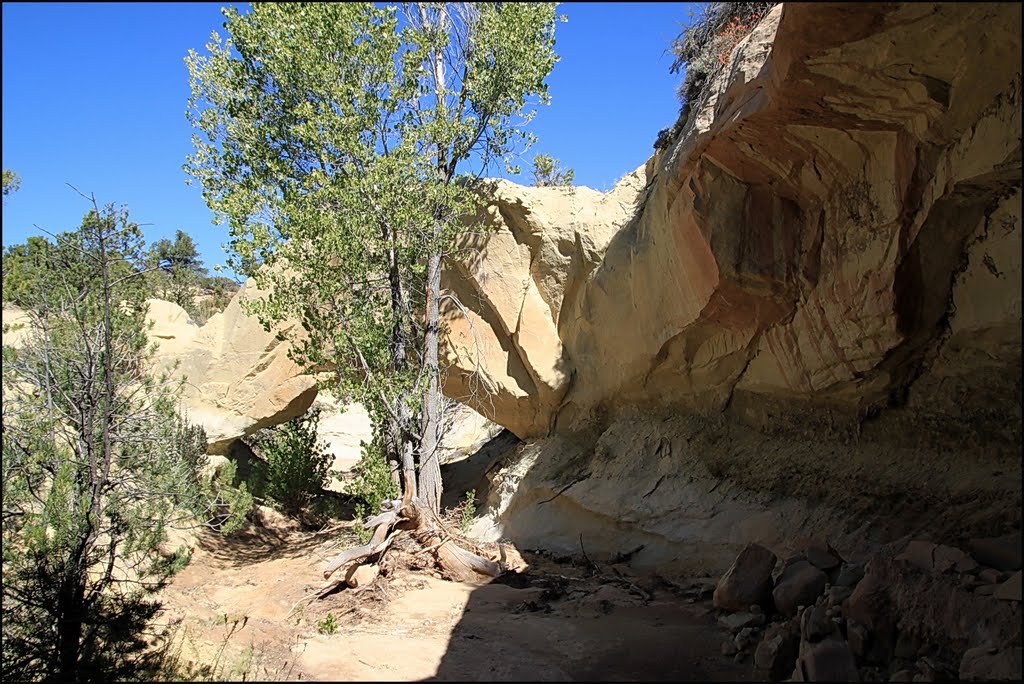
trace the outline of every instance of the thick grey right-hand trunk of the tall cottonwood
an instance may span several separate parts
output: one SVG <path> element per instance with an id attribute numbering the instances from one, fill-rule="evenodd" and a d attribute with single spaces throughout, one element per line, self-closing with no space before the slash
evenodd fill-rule
<path id="1" fill-rule="evenodd" d="M 437 445 L 441 433 L 441 397 L 437 344 L 440 315 L 437 300 L 441 289 L 441 255 L 437 252 L 427 260 L 426 334 L 423 339 L 423 372 L 427 390 L 423 397 L 423 438 L 420 442 L 419 496 L 432 512 L 440 511 L 441 469 L 437 462 Z"/>

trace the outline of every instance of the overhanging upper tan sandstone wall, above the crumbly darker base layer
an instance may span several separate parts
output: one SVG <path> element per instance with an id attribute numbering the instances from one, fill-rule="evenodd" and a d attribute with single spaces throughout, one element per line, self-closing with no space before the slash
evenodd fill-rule
<path id="1" fill-rule="evenodd" d="M 1020 19 L 778 5 L 614 189 L 497 183 L 445 391 L 522 438 L 636 407 L 1019 438 Z"/>

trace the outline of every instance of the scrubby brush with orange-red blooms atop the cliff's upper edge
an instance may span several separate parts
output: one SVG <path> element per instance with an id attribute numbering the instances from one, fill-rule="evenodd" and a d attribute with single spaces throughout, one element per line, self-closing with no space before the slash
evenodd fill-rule
<path id="1" fill-rule="evenodd" d="M 672 43 L 673 74 L 685 70 L 679 87 L 683 104 L 681 119 L 697 100 L 709 80 L 728 62 L 732 48 L 777 2 L 714 2 L 683 30 Z M 657 146 L 655 144 L 655 146 Z"/>

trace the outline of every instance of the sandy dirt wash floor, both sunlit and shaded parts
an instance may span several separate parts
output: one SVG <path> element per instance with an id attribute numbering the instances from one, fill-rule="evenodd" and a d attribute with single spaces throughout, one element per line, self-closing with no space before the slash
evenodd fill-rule
<path id="1" fill-rule="evenodd" d="M 727 635 L 707 582 L 687 590 L 625 566 L 529 553 L 520 562 L 512 549 L 519 571 L 488 585 L 401 564 L 387 582 L 295 608 L 324 586 L 324 560 L 346 535 L 282 525 L 197 539 L 162 595 L 165 618 L 180 618 L 183 672 L 221 681 L 752 678 L 749 664 L 720 653 Z"/>

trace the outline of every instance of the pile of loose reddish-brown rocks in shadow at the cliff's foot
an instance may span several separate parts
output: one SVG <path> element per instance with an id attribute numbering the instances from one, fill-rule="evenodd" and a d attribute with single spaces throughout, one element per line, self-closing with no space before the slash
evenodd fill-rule
<path id="1" fill-rule="evenodd" d="M 866 562 L 806 542 L 779 563 L 748 545 L 714 590 L 722 652 L 772 681 L 1020 680 L 1021 539 L 970 553 L 911 541 Z"/>

